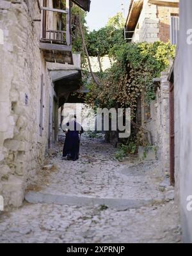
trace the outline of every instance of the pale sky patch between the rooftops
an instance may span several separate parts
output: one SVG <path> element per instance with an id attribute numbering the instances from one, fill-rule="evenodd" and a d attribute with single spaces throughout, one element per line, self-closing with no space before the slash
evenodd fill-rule
<path id="1" fill-rule="evenodd" d="M 130 0 L 92 0 L 90 12 L 86 17 L 90 31 L 104 27 L 110 17 L 117 12 L 122 12 L 122 3 L 124 3 L 125 17 L 127 17 Z"/>

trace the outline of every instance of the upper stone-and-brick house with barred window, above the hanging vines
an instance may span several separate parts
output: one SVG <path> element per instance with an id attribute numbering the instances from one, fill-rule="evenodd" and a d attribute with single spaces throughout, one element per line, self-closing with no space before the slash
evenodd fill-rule
<path id="1" fill-rule="evenodd" d="M 179 0 L 131 0 L 125 38 L 131 42 L 177 44 Z"/>

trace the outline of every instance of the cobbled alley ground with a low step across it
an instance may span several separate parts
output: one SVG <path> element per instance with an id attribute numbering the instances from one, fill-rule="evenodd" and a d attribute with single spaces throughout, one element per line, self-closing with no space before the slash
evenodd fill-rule
<path id="1" fill-rule="evenodd" d="M 62 159 L 60 143 L 22 207 L 1 212 L 0 243 L 180 243 L 173 188 L 159 186 L 159 162 L 118 162 L 115 150 L 85 134 L 73 162 Z"/>

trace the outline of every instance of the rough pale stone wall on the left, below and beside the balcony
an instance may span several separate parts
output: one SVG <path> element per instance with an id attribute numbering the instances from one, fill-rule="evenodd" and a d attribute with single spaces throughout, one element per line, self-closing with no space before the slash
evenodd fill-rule
<path id="1" fill-rule="evenodd" d="M 39 50 L 37 1 L 0 3 L 0 195 L 6 205 L 22 204 L 24 189 L 35 179 L 47 150 L 52 86 Z M 44 74 L 44 131 L 39 132 L 40 76 Z"/>

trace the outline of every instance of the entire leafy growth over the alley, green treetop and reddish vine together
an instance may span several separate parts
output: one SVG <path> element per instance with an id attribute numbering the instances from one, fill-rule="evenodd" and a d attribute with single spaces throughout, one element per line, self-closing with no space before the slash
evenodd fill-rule
<path id="1" fill-rule="evenodd" d="M 88 59 L 89 66 L 90 56 L 97 57 L 100 66 L 100 72 L 97 74 L 93 74 L 90 68 L 92 80 L 84 79 L 84 85 L 89 90 L 86 94 L 86 104 L 92 105 L 94 109 L 131 108 L 131 122 L 136 132 L 132 132 L 131 138 L 124 141 L 126 147 L 123 149 L 132 153 L 136 151 L 138 145 L 148 146 L 151 141 L 148 139 L 151 137 L 150 132 L 134 122 L 138 98 L 141 94 L 144 95 L 147 104 L 156 98 L 153 79 L 159 77 L 170 65 L 170 61 L 175 57 L 175 46 L 170 42 L 154 42 L 154 44 L 125 42 L 122 28 L 124 23 L 120 14 L 111 18 L 104 28 L 92 32 L 88 32 L 84 17 L 80 17 L 81 19 L 79 26 L 81 43 L 76 48 L 85 53 L 83 56 Z M 113 64 L 111 68 L 103 71 L 100 57 L 106 55 L 113 60 L 111 61 Z M 87 70 L 83 73 L 86 77 Z"/>

